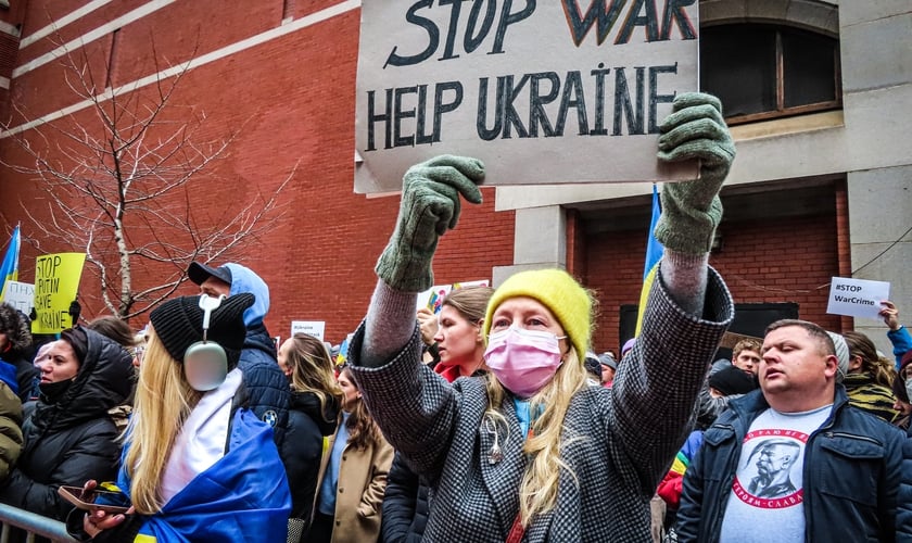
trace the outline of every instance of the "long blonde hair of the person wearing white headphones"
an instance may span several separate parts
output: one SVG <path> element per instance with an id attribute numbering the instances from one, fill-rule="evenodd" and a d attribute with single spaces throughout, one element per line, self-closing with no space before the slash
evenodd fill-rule
<path id="1" fill-rule="evenodd" d="M 164 506 L 159 492 L 162 473 L 177 433 L 202 395 L 188 384 L 181 364 L 168 354 L 150 327 L 134 414 L 125 432 L 130 449 L 124 462 L 138 514 L 153 515 Z"/>

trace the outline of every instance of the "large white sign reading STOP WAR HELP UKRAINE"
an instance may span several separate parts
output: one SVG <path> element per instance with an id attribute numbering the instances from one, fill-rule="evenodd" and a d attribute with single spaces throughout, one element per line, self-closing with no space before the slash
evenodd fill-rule
<path id="1" fill-rule="evenodd" d="M 444 153 L 491 186 L 694 178 L 656 150 L 698 29 L 696 0 L 364 0 L 355 191 Z"/>

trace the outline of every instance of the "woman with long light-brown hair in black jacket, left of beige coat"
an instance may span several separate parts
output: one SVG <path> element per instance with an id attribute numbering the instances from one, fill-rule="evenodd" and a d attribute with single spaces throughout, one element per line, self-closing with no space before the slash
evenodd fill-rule
<path id="1" fill-rule="evenodd" d="M 335 432 L 342 389 L 335 381 L 326 345 L 313 336 L 299 332 L 287 339 L 279 348 L 278 362 L 291 387 L 282 442 L 291 488 L 289 530 L 301 533 L 314 513 L 324 438 Z"/>

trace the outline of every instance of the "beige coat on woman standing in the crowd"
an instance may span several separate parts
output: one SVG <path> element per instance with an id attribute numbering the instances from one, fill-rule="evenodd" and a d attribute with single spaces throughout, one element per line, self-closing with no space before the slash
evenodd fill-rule
<path id="1" fill-rule="evenodd" d="M 329 446 L 322 456 L 317 492 L 322 485 L 337 435 L 339 430 L 329 438 Z M 357 451 L 352 445 L 345 446 L 339 468 L 339 484 L 335 488 L 335 526 L 332 530 L 332 543 L 377 541 L 380 535 L 387 475 L 392 463 L 393 447 L 382 435 L 364 451 Z"/>

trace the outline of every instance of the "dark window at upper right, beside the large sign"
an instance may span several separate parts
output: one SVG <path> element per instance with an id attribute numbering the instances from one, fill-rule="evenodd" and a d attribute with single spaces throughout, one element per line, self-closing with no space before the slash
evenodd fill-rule
<path id="1" fill-rule="evenodd" d="M 839 41 L 784 26 L 706 27 L 700 87 L 722 100 L 729 124 L 839 109 Z"/>

